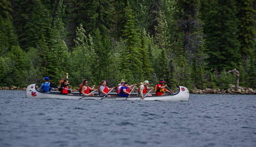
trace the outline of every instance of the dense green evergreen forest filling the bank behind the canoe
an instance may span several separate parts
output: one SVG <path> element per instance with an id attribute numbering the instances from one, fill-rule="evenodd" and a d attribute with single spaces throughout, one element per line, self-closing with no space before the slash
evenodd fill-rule
<path id="1" fill-rule="evenodd" d="M 0 0 L 0 86 L 256 87 L 253 0 Z M 224 74 L 220 77 L 217 75 Z M 172 89 L 171 88 L 171 89 Z"/>

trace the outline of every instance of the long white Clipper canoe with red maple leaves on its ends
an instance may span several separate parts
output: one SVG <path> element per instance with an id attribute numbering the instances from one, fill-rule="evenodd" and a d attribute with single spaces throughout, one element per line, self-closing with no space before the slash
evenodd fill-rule
<path id="1" fill-rule="evenodd" d="M 73 94 L 73 93 L 72 93 Z M 110 94 L 112 97 L 99 97 L 95 94 L 93 97 L 84 97 L 74 93 L 74 95 L 60 94 L 57 92 L 45 93 L 40 92 L 36 89 L 36 84 L 31 84 L 26 88 L 26 97 L 33 99 L 95 99 L 95 100 L 141 100 L 141 97 L 138 97 L 136 94 L 131 94 L 130 97 L 118 97 L 116 94 Z M 187 101 L 189 98 L 189 91 L 186 87 L 179 86 L 177 92 L 172 94 L 166 94 L 164 96 L 155 96 L 152 94 L 152 97 L 145 97 L 143 101 Z"/>

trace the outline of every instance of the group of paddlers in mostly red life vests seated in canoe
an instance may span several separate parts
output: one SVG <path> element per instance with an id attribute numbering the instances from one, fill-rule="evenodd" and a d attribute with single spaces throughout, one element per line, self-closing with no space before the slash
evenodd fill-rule
<path id="1" fill-rule="evenodd" d="M 39 91 L 50 93 L 51 90 L 54 90 L 53 87 L 58 87 L 59 88 L 58 90 L 60 91 L 61 94 L 71 94 L 71 92 L 74 91 L 72 89 L 69 89 L 68 73 L 66 74 L 66 79 L 62 79 L 59 84 L 60 84 L 60 87 L 53 85 L 51 82 L 49 82 L 49 77 L 45 77 L 44 83 L 39 88 Z M 100 97 L 112 97 L 109 94 L 109 92 L 112 91 L 113 89 L 115 89 L 115 87 L 109 88 L 106 86 L 106 84 L 107 84 L 106 81 L 102 80 L 101 85 L 99 85 L 99 87 L 97 89 L 94 89 L 95 85 L 93 85 L 92 87 L 89 87 L 88 80 L 85 79 L 79 86 L 79 93 L 84 96 L 94 96 L 93 92 L 98 91 Z M 150 90 L 150 91 L 154 90 L 156 96 L 164 95 L 164 92 L 173 93 L 172 91 L 165 89 L 165 87 L 167 87 L 167 85 L 164 85 L 164 84 L 165 84 L 164 80 L 160 80 L 159 84 L 157 84 L 155 88 L 148 87 L 149 81 L 145 80 L 143 83 L 141 82 L 139 84 L 138 96 L 142 97 L 142 99 L 144 99 L 144 96 L 148 90 Z M 117 88 L 116 88 L 117 95 L 119 97 L 129 97 L 132 92 L 131 88 L 133 88 L 136 85 L 137 84 L 129 86 L 128 82 L 121 80 L 120 84 L 117 85 Z M 90 92 L 90 91 L 93 91 L 93 92 Z M 152 96 L 152 94 L 148 93 L 147 96 Z"/>

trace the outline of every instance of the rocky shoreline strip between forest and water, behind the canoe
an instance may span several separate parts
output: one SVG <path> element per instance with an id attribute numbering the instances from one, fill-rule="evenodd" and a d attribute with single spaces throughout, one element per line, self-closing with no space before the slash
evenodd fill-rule
<path id="1" fill-rule="evenodd" d="M 36 86 L 38 89 L 38 87 Z M 72 87 L 71 87 L 72 88 Z M 78 91 L 78 88 L 73 88 L 74 91 Z M 0 90 L 26 90 L 26 87 L 16 87 L 16 86 L 11 86 L 11 87 L 0 87 Z M 58 89 L 55 88 L 54 91 L 57 91 Z M 136 89 L 134 89 L 134 92 L 136 92 Z M 231 85 L 229 89 L 196 89 L 192 90 L 192 94 L 256 94 L 256 89 L 253 90 L 252 88 L 246 88 L 246 87 L 238 87 L 235 89 L 235 85 Z"/>

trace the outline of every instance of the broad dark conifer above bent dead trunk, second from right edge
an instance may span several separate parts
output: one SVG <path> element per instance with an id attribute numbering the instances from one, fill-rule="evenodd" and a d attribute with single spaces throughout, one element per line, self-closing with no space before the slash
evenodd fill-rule
<path id="1" fill-rule="evenodd" d="M 239 63 L 239 42 L 237 40 L 237 7 L 235 0 L 205 1 L 202 19 L 205 23 L 206 53 L 208 67 L 220 72 L 222 69 L 232 70 Z"/>

